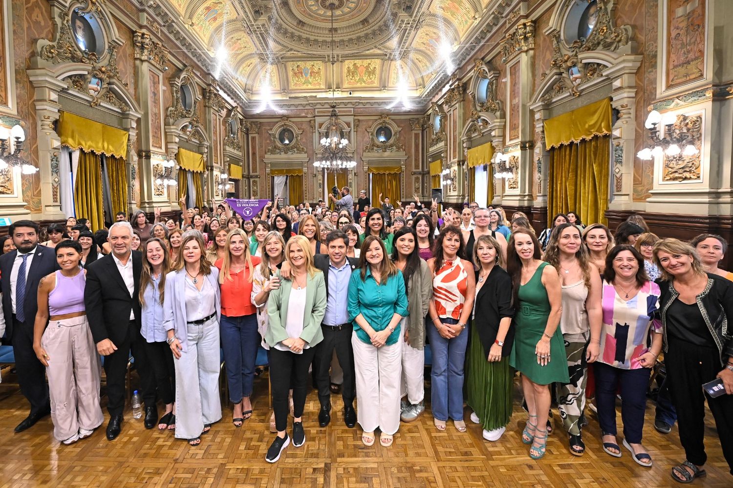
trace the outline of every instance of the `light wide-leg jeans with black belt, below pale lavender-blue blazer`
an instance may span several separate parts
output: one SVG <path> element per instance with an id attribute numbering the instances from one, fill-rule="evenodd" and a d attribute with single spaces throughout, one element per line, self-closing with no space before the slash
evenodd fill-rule
<path id="1" fill-rule="evenodd" d="M 219 400 L 219 324 L 213 317 L 188 324 L 188 347 L 174 360 L 176 368 L 176 437 L 194 439 L 204 424 L 221 420 Z"/>

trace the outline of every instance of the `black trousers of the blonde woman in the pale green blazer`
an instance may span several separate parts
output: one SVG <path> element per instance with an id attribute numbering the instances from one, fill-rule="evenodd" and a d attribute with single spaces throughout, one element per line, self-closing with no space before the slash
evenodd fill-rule
<path id="1" fill-rule="evenodd" d="M 287 413 L 290 410 L 287 397 L 292 388 L 292 412 L 295 418 L 303 415 L 308 394 L 308 366 L 313 361 L 313 347 L 303 350 L 303 354 L 281 351 L 270 347 L 270 382 L 272 382 L 273 410 L 278 432 L 287 428 Z"/>

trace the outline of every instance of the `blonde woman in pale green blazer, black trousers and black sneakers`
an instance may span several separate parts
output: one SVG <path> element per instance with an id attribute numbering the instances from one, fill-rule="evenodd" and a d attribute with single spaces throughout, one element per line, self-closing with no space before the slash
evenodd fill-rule
<path id="1" fill-rule="evenodd" d="M 270 346 L 268 359 L 277 428 L 277 437 L 265 456 L 268 462 L 280 459 L 281 452 L 290 444 L 285 428 L 291 387 L 292 444 L 300 447 L 306 442 L 301 417 L 306 404 L 308 369 L 314 346 L 323 340 L 325 281 L 323 273 L 313 265 L 308 239 L 302 235 L 290 237 L 285 246 L 285 259 L 290 265 L 290 280 L 281 280 L 279 288 L 270 291 L 270 324 L 265 332 L 265 342 Z"/>

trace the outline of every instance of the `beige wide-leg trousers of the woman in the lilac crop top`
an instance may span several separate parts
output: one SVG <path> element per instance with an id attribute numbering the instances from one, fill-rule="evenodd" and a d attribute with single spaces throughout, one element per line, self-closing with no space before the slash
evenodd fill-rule
<path id="1" fill-rule="evenodd" d="M 41 338 L 48 353 L 48 391 L 54 437 L 66 440 L 79 429 L 102 424 L 99 384 L 102 366 L 86 315 L 48 322 Z"/>

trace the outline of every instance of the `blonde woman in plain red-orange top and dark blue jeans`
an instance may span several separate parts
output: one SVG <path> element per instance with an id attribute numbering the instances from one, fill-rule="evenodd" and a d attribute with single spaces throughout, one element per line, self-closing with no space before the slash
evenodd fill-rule
<path id="1" fill-rule="evenodd" d="M 221 270 L 221 347 L 224 350 L 229 401 L 234 404 L 232 422 L 235 427 L 241 427 L 252 416 L 249 397 L 259 341 L 257 308 L 251 300 L 254 267 L 259 265 L 259 258 L 249 255 L 248 244 L 249 239 L 243 229 L 232 229 L 226 236 L 224 259 L 214 264 Z"/>

